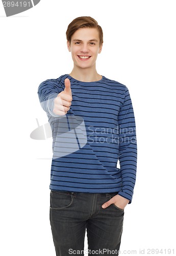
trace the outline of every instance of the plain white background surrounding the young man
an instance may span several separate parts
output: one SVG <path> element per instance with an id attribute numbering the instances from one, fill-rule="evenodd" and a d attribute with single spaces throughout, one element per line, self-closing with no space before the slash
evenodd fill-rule
<path id="1" fill-rule="evenodd" d="M 12 17 L 1 4 L 0 16 L 1 255 L 55 255 L 52 139 L 32 140 L 30 133 L 36 118 L 47 122 L 39 84 L 72 70 L 65 32 L 78 16 L 92 16 L 102 26 L 97 72 L 128 87 L 135 111 L 137 180 L 120 249 L 138 255 L 144 248 L 145 255 L 163 249 L 167 255 L 164 249 L 175 249 L 175 1 L 41 0 Z"/>

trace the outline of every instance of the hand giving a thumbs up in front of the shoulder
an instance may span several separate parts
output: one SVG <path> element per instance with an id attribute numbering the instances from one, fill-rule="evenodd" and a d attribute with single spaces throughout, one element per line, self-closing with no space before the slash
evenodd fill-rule
<path id="1" fill-rule="evenodd" d="M 70 80 L 66 78 L 64 80 L 65 89 L 54 100 L 54 109 L 53 112 L 56 115 L 65 115 L 70 109 L 72 94 L 71 94 L 71 84 Z"/>

